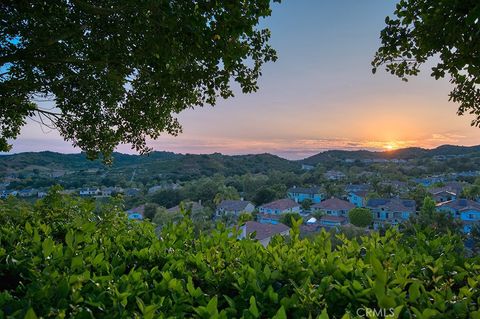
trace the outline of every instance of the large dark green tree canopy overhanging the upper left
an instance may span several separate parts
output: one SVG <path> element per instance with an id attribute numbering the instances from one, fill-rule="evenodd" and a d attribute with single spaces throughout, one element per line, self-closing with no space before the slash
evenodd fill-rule
<path id="1" fill-rule="evenodd" d="M 148 151 L 181 132 L 175 114 L 233 96 L 232 80 L 257 90 L 276 59 L 256 27 L 270 14 L 269 0 L 2 1 L 0 151 L 28 117 L 91 158 Z"/>

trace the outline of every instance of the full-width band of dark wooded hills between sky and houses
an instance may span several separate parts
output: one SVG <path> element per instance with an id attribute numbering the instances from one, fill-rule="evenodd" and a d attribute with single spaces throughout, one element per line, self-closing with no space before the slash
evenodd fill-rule
<path id="1" fill-rule="evenodd" d="M 458 158 L 465 159 L 459 161 Z M 428 160 L 443 164 L 430 165 L 431 161 Z M 298 161 L 267 153 L 236 156 L 219 153 L 184 155 L 152 152 L 142 156 L 114 153 L 111 166 L 104 165 L 101 160 L 87 160 L 82 153 L 19 153 L 0 156 L 0 190 L 7 188 L 21 191 L 35 188 L 45 191 L 55 184 L 60 184 L 66 189 L 100 186 L 140 187 L 138 185 L 151 187 L 162 182 L 186 182 L 217 174 L 233 177 L 245 174 L 271 174 L 278 171 L 301 176 L 306 171 L 314 170 L 318 165 L 323 166 L 321 170 L 338 171 L 338 168 L 343 167 L 343 171 L 347 171 L 349 167 L 355 165 L 364 170 L 365 165 L 372 163 L 404 164 L 404 168 L 409 167 L 408 174 L 412 178 L 423 177 L 427 171 L 428 174 L 445 173 L 447 168 L 456 172 L 477 171 L 480 167 L 480 146 L 445 145 L 432 150 L 406 148 L 386 152 L 335 150 Z M 426 171 L 425 165 L 430 165 L 429 168 L 432 169 Z M 406 171 L 402 171 L 402 174 L 405 173 Z M 308 179 L 305 182 L 318 183 L 317 180 Z M 239 191 L 242 191 L 242 187 L 240 184 L 237 185 Z"/>

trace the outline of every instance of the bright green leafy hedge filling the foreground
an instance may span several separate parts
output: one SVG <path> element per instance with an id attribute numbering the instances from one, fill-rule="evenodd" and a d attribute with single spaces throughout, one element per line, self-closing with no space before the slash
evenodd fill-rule
<path id="1" fill-rule="evenodd" d="M 159 238 L 120 212 L 55 190 L 0 202 L 0 318 L 480 318 L 479 260 L 454 235 L 301 240 L 294 225 L 265 249 L 188 218 Z"/>

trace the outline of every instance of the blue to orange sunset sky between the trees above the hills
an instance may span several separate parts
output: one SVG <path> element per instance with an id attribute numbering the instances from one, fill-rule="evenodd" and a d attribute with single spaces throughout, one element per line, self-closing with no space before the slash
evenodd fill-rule
<path id="1" fill-rule="evenodd" d="M 387 149 L 480 144 L 471 118 L 448 102 L 448 80 L 428 67 L 404 83 L 370 62 L 393 0 L 284 0 L 262 22 L 279 60 L 265 66 L 260 90 L 179 115 L 184 132 L 155 150 L 269 152 L 299 159 L 326 149 Z M 12 152 L 78 152 L 56 132 L 30 122 Z M 132 152 L 124 145 L 119 151 Z"/>

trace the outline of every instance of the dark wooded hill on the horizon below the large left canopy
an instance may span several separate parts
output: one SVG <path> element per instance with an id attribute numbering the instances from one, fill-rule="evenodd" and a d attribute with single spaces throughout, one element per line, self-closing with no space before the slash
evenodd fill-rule
<path id="1" fill-rule="evenodd" d="M 114 153 L 113 165 L 105 166 L 101 160 L 90 161 L 85 154 L 60 154 L 54 152 L 19 153 L 0 156 L 0 177 L 8 174 L 33 171 L 70 172 L 94 170 L 114 173 L 128 172 L 133 169 L 137 174 L 150 176 L 162 174 L 166 179 L 191 180 L 201 176 L 222 174 L 225 176 L 245 173 L 261 173 L 268 170 L 292 171 L 300 169 L 300 164 L 271 154 L 227 156 L 219 153 L 210 155 L 175 154 L 170 152 L 152 152 L 148 155 L 128 155 Z"/>

